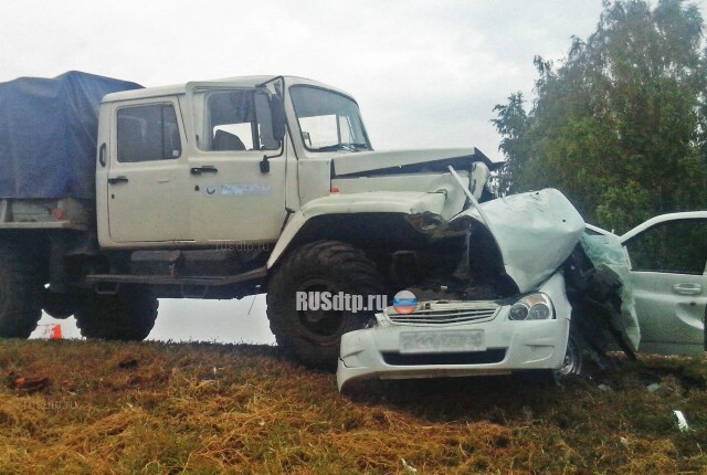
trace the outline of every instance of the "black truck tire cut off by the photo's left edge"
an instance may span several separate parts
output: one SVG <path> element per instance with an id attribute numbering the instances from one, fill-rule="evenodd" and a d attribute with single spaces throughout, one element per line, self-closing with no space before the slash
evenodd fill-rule
<path id="1" fill-rule="evenodd" d="M 31 250 L 0 242 L 0 338 L 28 338 L 42 317 L 39 260 Z"/>

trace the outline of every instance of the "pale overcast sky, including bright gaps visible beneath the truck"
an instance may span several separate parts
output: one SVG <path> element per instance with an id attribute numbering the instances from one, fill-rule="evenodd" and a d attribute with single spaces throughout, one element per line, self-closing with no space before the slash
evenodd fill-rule
<path id="1" fill-rule="evenodd" d="M 70 70 L 144 86 L 298 75 L 354 95 L 377 149 L 476 146 L 500 159 L 494 105 L 530 97 L 532 57 L 563 56 L 572 35 L 594 31 L 601 3 L 4 1 L 0 81 Z M 247 316 L 251 304 L 162 300 L 151 338 L 272 341 L 262 297 Z"/>

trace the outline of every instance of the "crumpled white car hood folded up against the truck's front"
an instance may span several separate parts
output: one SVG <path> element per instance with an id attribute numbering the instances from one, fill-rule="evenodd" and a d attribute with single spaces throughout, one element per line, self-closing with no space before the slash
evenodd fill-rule
<path id="1" fill-rule="evenodd" d="M 518 289 L 530 292 L 569 257 L 584 232 L 584 220 L 555 189 L 498 198 L 464 211 L 488 228 Z M 483 214 L 483 215 L 482 215 Z M 472 242 L 471 245 L 474 245 Z"/>

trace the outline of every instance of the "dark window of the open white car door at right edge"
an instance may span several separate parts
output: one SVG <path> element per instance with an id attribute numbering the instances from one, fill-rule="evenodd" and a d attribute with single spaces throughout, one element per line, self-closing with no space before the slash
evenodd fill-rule
<path id="1" fill-rule="evenodd" d="M 626 242 L 633 271 L 701 274 L 707 260 L 707 220 L 668 221 Z"/>

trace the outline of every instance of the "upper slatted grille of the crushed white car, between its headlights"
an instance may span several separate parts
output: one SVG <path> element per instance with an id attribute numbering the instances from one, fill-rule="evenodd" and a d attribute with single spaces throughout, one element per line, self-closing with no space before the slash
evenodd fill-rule
<path id="1" fill-rule="evenodd" d="M 500 307 L 494 302 L 423 302 L 412 314 L 388 307 L 386 317 L 399 325 L 449 325 L 493 320 Z"/>

